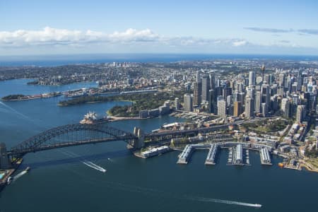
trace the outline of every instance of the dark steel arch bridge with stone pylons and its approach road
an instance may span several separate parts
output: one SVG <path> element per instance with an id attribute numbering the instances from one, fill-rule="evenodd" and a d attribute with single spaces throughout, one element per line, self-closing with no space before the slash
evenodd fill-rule
<path id="1" fill-rule="evenodd" d="M 100 124 L 67 124 L 57 126 L 13 146 L 6 151 L 6 146 L 0 146 L 0 168 L 10 166 L 10 161 L 15 158 L 22 158 L 27 153 L 46 151 L 54 148 L 64 148 L 69 146 L 79 146 L 93 143 L 103 143 L 111 141 L 125 141 L 127 147 L 133 150 L 145 146 L 160 145 L 170 142 L 171 139 L 181 136 L 195 136 L 199 133 L 206 133 L 216 129 L 228 127 L 230 124 L 223 124 L 198 129 L 163 131 L 145 134 L 138 127 L 134 127 L 134 132 L 124 131 L 114 128 L 107 123 Z"/>

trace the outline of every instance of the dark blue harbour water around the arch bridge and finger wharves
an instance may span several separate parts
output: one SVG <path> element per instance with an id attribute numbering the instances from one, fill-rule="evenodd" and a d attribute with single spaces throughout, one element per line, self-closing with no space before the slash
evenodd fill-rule
<path id="1" fill-rule="evenodd" d="M 36 94 L 94 86 L 26 86 L 29 80 L 0 82 L 0 97 Z M 45 129 L 78 123 L 89 110 L 98 114 L 129 102 L 58 107 L 63 97 L 0 102 L 0 141 L 7 147 Z M 175 117 L 126 120 L 113 126 L 132 131 L 158 129 Z M 206 166 L 208 151 L 195 151 L 187 165 L 178 165 L 179 152 L 142 159 L 126 150 L 126 143 L 30 153 L 20 171 L 31 170 L 0 194 L 0 211 L 315 211 L 318 175 L 261 166 L 259 153 L 249 151 L 251 166 L 228 166 L 228 152 L 218 153 L 216 165 Z M 103 172 L 102 169 L 107 170 Z M 237 204 L 238 203 L 238 204 Z M 250 204 L 261 204 L 255 208 Z"/>

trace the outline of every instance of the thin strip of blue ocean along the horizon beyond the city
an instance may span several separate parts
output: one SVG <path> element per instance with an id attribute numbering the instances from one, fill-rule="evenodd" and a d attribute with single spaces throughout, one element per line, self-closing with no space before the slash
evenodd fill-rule
<path id="1" fill-rule="evenodd" d="M 47 56 L 2 56 L 0 66 L 61 66 L 65 64 L 92 64 L 104 62 L 173 62 L 204 59 L 291 59 L 318 60 L 311 55 L 268 54 L 70 54 Z"/>

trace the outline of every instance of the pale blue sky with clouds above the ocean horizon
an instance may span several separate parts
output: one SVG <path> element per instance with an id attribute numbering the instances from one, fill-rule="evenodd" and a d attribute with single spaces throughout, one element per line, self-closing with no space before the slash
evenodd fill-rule
<path id="1" fill-rule="evenodd" d="M 318 1 L 0 0 L 0 54 L 318 55 Z"/>

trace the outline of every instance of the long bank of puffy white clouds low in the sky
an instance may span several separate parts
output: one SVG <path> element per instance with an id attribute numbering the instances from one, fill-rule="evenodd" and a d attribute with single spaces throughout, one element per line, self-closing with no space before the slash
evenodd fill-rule
<path id="1" fill-rule="evenodd" d="M 202 39 L 199 37 L 167 37 L 153 31 L 129 28 L 124 32 L 111 34 L 87 30 L 65 30 L 43 28 L 42 30 L 0 31 L 0 46 L 23 47 L 29 45 L 72 45 L 81 46 L 89 42 L 98 43 L 137 43 L 153 42 L 162 45 L 233 45 L 235 47 L 247 44 L 246 40 L 238 39 Z"/>

